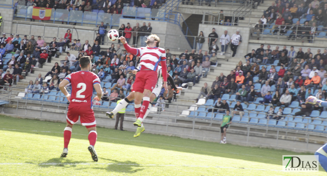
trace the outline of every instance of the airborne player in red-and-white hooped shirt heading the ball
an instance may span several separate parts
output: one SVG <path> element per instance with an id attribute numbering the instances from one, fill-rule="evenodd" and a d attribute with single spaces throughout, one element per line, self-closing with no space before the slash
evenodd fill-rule
<path id="1" fill-rule="evenodd" d="M 123 36 L 119 37 L 119 40 L 124 44 L 127 52 L 141 57 L 139 63 L 139 65 L 141 65 L 141 70 L 138 72 L 132 86 L 132 92 L 135 92 L 134 108 L 135 117 L 137 118 L 133 124 L 134 126 L 141 127 L 143 117 L 146 113 L 145 109 L 150 103 L 151 92 L 157 84 L 158 74 L 156 71 L 159 61 L 161 62 L 162 72 L 167 72 L 166 53 L 163 48 L 159 47 L 160 38 L 155 34 L 151 34 L 147 37 L 147 47 L 132 48 L 127 44 Z M 163 87 L 167 89 L 167 74 L 163 74 Z M 142 98 L 143 104 L 141 106 Z"/>

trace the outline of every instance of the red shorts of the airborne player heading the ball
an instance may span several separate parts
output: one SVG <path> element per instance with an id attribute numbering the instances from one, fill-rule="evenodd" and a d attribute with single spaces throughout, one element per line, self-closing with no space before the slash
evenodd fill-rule
<path id="1" fill-rule="evenodd" d="M 158 74 L 153 70 L 141 70 L 136 74 L 132 92 L 144 92 L 144 89 L 152 90 L 156 87 Z"/>

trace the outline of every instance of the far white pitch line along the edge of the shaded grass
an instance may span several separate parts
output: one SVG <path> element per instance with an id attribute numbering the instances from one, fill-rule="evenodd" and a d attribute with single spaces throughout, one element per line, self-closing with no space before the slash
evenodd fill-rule
<path id="1" fill-rule="evenodd" d="M 32 132 L 44 132 L 44 133 L 63 133 L 63 132 L 53 132 L 53 131 L 38 131 L 38 130 L 24 130 L 24 129 L 4 129 L 4 128 L 0 128 L 0 130 L 16 130 L 16 131 L 32 131 Z M 113 138 L 113 137 L 107 137 L 110 139 L 118 139 L 118 140 L 122 140 L 122 141 L 129 141 L 127 139 L 121 139 L 121 138 Z M 143 141 L 143 143 L 150 143 L 153 144 L 153 142 L 145 142 Z M 156 143 L 159 144 L 159 143 Z M 167 144 L 167 143 L 162 143 L 160 145 L 169 145 L 169 146 L 174 146 L 174 147 L 182 147 L 182 148 L 190 148 L 190 149 L 198 149 L 196 147 L 190 147 L 190 146 L 182 146 L 182 145 L 173 145 L 173 144 Z M 264 158 L 270 158 L 270 159 L 276 159 L 276 158 L 272 158 L 272 157 L 265 157 L 265 156 L 256 156 L 256 155 L 249 155 L 249 154 L 241 154 L 241 153 L 235 153 L 235 152 L 229 152 L 229 151 L 224 151 L 224 153 L 230 153 L 230 154 L 237 154 L 237 155 L 244 155 L 244 156 L 255 156 L 255 157 L 264 157 Z"/>

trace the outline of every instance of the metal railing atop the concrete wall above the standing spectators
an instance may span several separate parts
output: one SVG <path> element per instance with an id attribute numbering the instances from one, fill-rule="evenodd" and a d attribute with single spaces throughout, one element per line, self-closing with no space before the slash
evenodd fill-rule
<path id="1" fill-rule="evenodd" d="M 223 19 L 224 21 L 219 21 L 220 16 L 224 15 L 224 18 L 231 18 L 230 22 L 227 22 L 227 19 Z M 243 23 L 238 20 L 242 20 L 243 18 L 249 17 L 249 22 Z M 246 24 L 250 27 L 250 14 L 234 14 L 234 13 L 208 13 L 203 12 L 202 16 L 202 24 L 214 24 L 214 25 L 226 25 L 226 26 L 236 26 L 238 24 Z"/>

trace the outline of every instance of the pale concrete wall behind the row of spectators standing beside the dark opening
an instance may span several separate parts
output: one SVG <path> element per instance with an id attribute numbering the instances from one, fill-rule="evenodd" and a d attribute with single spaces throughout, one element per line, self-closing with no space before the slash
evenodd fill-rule
<path id="1" fill-rule="evenodd" d="M 218 37 L 220 37 L 222 34 L 224 34 L 223 28 L 227 27 L 228 34 L 232 37 L 233 34 L 236 33 L 236 30 L 240 30 L 240 35 L 242 36 L 242 43 L 238 46 L 237 52 L 235 57 L 243 57 L 248 52 L 248 42 L 249 42 L 249 32 L 250 29 L 246 27 L 237 27 L 237 26 L 222 26 L 222 25 L 212 25 L 212 24 L 199 24 L 199 32 L 203 31 L 203 34 L 205 37 L 208 37 L 210 33 L 212 33 L 212 28 L 215 28 L 216 33 L 218 34 Z M 219 40 L 219 39 L 218 39 Z M 219 42 L 219 41 L 218 41 Z M 221 50 L 220 43 L 218 44 L 219 51 Z M 202 50 L 207 51 L 209 49 L 208 46 L 208 39 L 206 38 L 206 41 L 204 42 L 202 46 Z M 228 49 L 226 52 L 232 53 L 231 47 L 228 46 Z M 229 56 L 229 55 L 227 55 Z"/>

